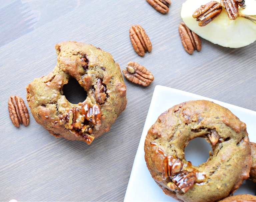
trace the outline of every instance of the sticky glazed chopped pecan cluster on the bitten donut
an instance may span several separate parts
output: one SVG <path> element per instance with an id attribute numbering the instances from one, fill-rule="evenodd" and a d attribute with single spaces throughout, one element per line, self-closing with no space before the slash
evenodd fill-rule
<path id="1" fill-rule="evenodd" d="M 66 113 L 60 115 L 58 120 L 60 125 L 64 125 L 77 137 L 82 136 L 87 144 L 90 144 L 94 139 L 94 136 L 91 135 L 92 127 L 99 130 L 101 126 L 101 109 L 97 103 L 93 106 L 86 103 L 81 107 L 67 109 Z"/>

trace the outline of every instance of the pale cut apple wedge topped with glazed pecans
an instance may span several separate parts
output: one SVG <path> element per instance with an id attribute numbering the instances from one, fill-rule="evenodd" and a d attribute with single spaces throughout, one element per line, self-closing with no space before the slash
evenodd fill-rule
<path id="1" fill-rule="evenodd" d="M 197 8 L 208 2 L 210 0 L 187 0 L 183 3 L 181 17 L 190 30 L 224 47 L 240 48 L 256 41 L 256 23 L 242 17 L 230 20 L 224 8 L 221 14 L 208 25 L 198 26 L 198 21 L 192 15 Z M 239 12 L 245 15 L 256 15 L 256 0 L 246 0 L 245 5 L 245 9 L 239 7 Z"/>

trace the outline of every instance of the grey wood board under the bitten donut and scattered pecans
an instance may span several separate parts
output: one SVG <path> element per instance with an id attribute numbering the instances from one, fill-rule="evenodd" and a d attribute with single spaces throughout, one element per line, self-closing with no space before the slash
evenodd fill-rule
<path id="1" fill-rule="evenodd" d="M 230 49 L 202 39 L 201 52 L 187 54 L 178 32 L 184 1 L 173 1 L 166 15 L 146 0 L 80 0 L 76 9 L 64 13 L 56 5 L 49 12 L 61 16 L 2 43 L 0 201 L 122 201 L 156 85 L 256 110 L 256 43 Z M 132 24 L 141 25 L 152 42 L 152 52 L 144 57 L 132 48 Z M 129 61 L 137 62 L 155 77 L 148 87 L 125 80 L 126 110 L 91 145 L 54 138 L 35 122 L 30 110 L 27 127 L 16 128 L 9 119 L 9 96 L 25 100 L 25 86 L 54 68 L 54 45 L 67 40 L 110 52 L 121 69 Z"/>

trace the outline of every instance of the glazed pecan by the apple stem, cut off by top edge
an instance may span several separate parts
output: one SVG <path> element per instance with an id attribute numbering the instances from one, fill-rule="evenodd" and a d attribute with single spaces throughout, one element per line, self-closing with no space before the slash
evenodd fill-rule
<path id="1" fill-rule="evenodd" d="M 220 0 L 220 3 L 227 11 L 230 20 L 235 20 L 238 17 L 238 6 L 246 8 L 244 0 Z"/>

